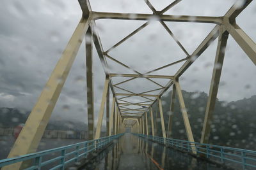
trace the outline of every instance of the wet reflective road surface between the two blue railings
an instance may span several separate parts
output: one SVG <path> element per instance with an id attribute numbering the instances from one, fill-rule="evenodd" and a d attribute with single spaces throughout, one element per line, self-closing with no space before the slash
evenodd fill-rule
<path id="1" fill-rule="evenodd" d="M 223 169 L 191 155 L 125 134 L 84 169 Z"/>

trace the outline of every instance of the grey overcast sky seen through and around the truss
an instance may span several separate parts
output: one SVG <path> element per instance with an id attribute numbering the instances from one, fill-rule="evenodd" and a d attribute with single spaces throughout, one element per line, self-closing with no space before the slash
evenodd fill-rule
<path id="1" fill-rule="evenodd" d="M 172 3 L 166 0 L 151 1 L 157 10 Z M 189 1 L 184 0 L 166 14 L 221 16 L 234 4 L 234 0 Z M 152 13 L 143 0 L 93 0 L 94 11 Z M 40 95 L 61 52 L 81 18 L 81 8 L 71 0 L 2 0 L 0 6 L 0 107 L 17 107 L 31 110 Z M 239 17 L 237 24 L 256 41 L 256 1 L 253 1 Z M 97 20 L 104 50 L 134 31 L 145 21 Z M 195 50 L 214 24 L 166 22 L 189 54 Z M 180 78 L 182 89 L 209 92 L 217 41 L 189 67 Z M 86 68 L 84 42 L 68 75 L 52 118 L 87 120 Z M 98 114 L 104 71 L 93 49 L 95 114 Z M 109 52 L 111 57 L 133 69 L 145 73 L 186 57 L 172 37 L 156 20 L 127 42 Z M 108 60 L 109 72 L 127 73 L 127 69 Z M 177 64 L 152 74 L 173 75 L 182 66 Z M 132 72 L 129 72 L 132 73 Z M 236 101 L 256 94 L 256 67 L 229 36 L 221 74 L 218 98 Z M 125 79 L 114 78 L 114 82 Z M 166 81 L 157 82 L 165 84 Z M 120 87 L 143 92 L 157 88 L 152 82 L 137 79 Z M 118 91 L 122 92 L 122 91 Z M 140 99 L 132 99 L 140 101 Z M 97 116 L 95 117 L 97 120 Z"/>

